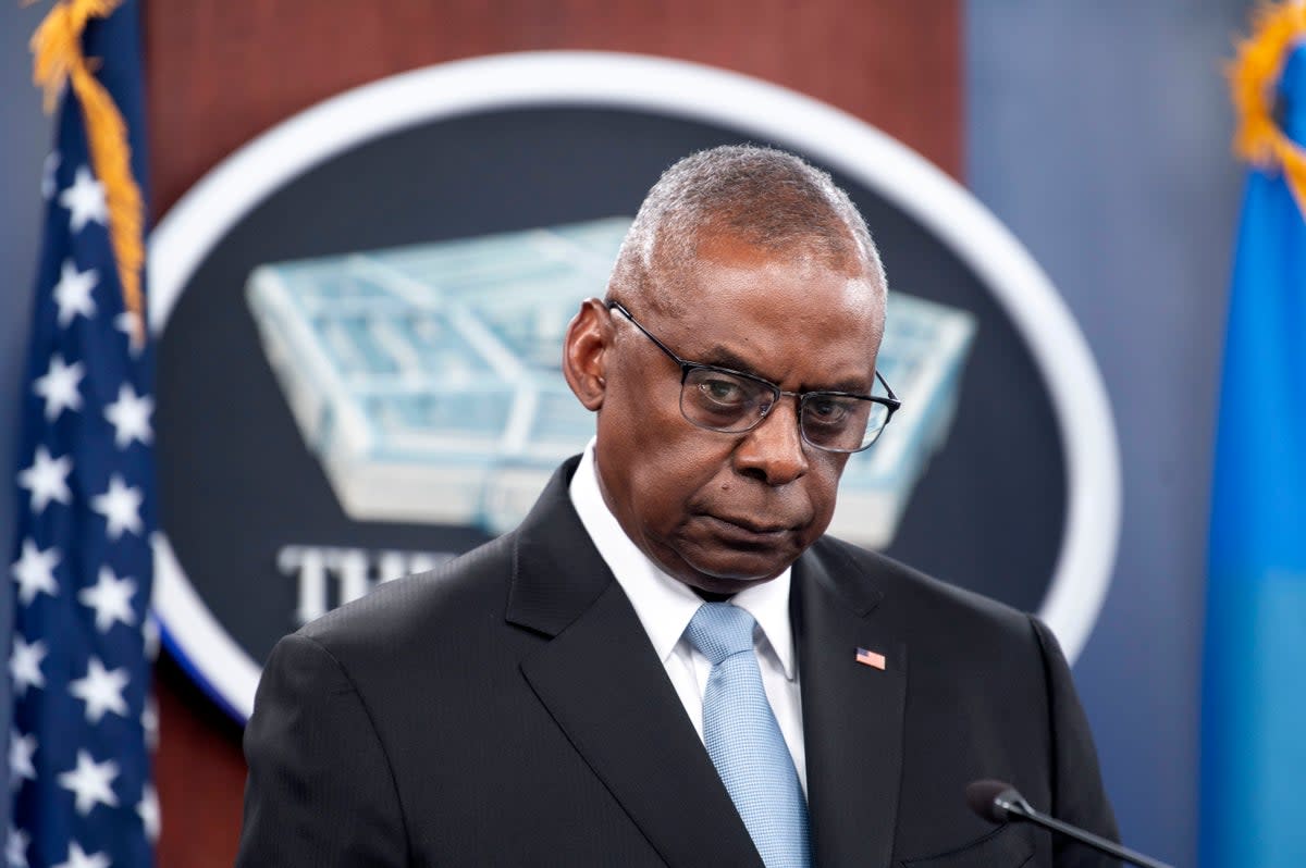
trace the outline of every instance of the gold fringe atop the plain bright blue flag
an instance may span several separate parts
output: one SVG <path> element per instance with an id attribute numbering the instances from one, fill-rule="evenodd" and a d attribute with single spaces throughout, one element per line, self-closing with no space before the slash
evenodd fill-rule
<path id="1" fill-rule="evenodd" d="M 1233 149 L 1258 168 L 1281 171 L 1306 215 L 1306 151 L 1275 123 L 1275 87 L 1288 52 L 1306 38 L 1306 3 L 1263 7 L 1251 37 L 1238 46 L 1229 68 L 1238 129 Z"/>

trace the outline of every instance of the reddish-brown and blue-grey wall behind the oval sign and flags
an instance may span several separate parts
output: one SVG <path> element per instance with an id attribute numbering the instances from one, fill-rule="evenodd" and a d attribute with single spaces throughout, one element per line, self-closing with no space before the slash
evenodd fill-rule
<path id="1" fill-rule="evenodd" d="M 1124 842 L 1195 864 L 1212 435 L 1242 187 L 1222 69 L 1251 4 L 518 0 L 494 16 L 485 5 L 145 3 L 154 218 L 242 142 L 346 86 L 509 50 L 622 50 L 735 69 L 921 151 L 1032 252 L 1105 380 L 1123 525 L 1105 607 L 1074 671 Z M 0 1 L 7 420 L 18 416 L 51 141 L 26 43 L 47 10 Z M 394 34 L 414 27 L 424 30 Z M 837 60 L 810 63 L 823 46 Z M 14 437 L 0 424 L 5 462 Z M 0 497 L 5 544 L 13 521 L 14 501 Z M 218 756 L 188 782 L 161 770 L 161 864 L 230 864 L 239 731 L 175 663 L 158 664 L 158 683 L 161 765 Z"/>

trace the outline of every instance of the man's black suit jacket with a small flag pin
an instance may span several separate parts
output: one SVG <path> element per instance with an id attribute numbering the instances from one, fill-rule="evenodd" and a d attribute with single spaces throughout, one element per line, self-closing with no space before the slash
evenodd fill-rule
<path id="1" fill-rule="evenodd" d="M 516 531 L 277 645 L 238 865 L 761 865 L 571 505 L 575 466 Z M 1107 864 L 965 805 L 1000 778 L 1115 834 L 1037 620 L 829 538 L 791 610 L 815 865 Z"/>

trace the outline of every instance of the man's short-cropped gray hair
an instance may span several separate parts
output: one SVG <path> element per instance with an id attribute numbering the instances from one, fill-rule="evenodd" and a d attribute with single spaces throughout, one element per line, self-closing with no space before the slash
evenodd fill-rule
<path id="1" fill-rule="evenodd" d="M 622 241 L 609 292 L 677 307 L 660 285 L 692 265 L 709 234 L 857 268 L 882 294 L 887 288 L 866 221 L 827 172 L 773 147 L 726 145 L 662 172 Z"/>

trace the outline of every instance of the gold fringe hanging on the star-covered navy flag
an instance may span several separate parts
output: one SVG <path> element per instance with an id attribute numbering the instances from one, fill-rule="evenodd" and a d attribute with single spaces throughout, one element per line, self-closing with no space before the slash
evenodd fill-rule
<path id="1" fill-rule="evenodd" d="M 145 265 L 145 204 L 132 176 L 127 123 L 114 98 L 82 55 L 82 31 L 91 18 L 107 18 L 123 0 L 60 0 L 31 37 L 33 81 L 46 91 L 46 111 L 54 111 L 65 84 L 82 110 L 90 162 L 104 188 L 108 236 L 123 285 L 123 304 L 135 322 L 132 341 L 145 342 L 141 269 Z"/>

